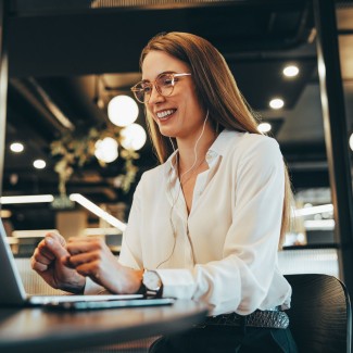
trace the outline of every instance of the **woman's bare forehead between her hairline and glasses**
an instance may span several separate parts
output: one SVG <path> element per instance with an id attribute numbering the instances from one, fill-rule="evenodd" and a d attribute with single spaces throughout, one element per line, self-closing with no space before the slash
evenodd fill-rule
<path id="1" fill-rule="evenodd" d="M 163 51 L 150 51 L 143 60 L 142 64 L 142 79 L 154 80 L 155 77 L 165 72 L 184 73 L 189 72 L 189 66 L 163 52 Z"/>

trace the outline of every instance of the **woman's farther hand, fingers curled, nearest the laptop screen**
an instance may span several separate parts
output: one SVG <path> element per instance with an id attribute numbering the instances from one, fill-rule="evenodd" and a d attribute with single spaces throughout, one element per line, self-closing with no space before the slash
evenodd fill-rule
<path id="1" fill-rule="evenodd" d="M 59 234 L 47 234 L 30 259 L 31 268 L 53 288 L 74 293 L 83 292 L 86 278 L 65 265 L 70 255 L 65 244 L 65 239 Z"/>

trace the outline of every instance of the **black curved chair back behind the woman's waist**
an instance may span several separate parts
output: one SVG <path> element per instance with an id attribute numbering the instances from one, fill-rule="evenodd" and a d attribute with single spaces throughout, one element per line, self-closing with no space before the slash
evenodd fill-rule
<path id="1" fill-rule="evenodd" d="M 345 286 L 336 277 L 286 275 L 292 286 L 287 311 L 299 352 L 351 352 L 352 314 Z"/>

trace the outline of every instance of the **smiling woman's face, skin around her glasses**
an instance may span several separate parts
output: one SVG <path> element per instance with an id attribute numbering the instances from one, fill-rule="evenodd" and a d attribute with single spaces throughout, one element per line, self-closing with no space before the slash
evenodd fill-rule
<path id="1" fill-rule="evenodd" d="M 162 73 L 190 73 L 189 66 L 162 52 L 150 51 L 142 64 L 142 79 L 153 83 Z M 176 78 L 173 93 L 161 96 L 153 86 L 146 108 L 164 136 L 177 139 L 194 138 L 202 128 L 205 112 L 196 94 L 192 76 Z"/>

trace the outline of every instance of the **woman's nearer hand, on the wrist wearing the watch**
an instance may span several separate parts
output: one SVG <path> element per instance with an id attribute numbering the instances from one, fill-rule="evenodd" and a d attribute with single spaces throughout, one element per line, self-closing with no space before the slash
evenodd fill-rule
<path id="1" fill-rule="evenodd" d="M 143 270 L 125 267 L 117 262 L 104 239 L 96 237 L 70 238 L 66 245 L 71 256 L 67 264 L 83 276 L 113 293 L 136 293 L 142 281 Z"/>

